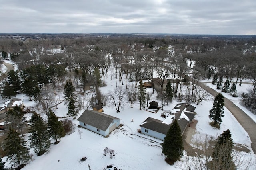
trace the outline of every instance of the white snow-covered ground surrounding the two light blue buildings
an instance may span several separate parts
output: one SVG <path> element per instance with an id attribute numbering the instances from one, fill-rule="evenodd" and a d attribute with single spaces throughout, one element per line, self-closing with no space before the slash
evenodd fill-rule
<path id="1" fill-rule="evenodd" d="M 110 78 L 105 80 L 107 86 L 100 89 L 104 94 L 116 87 L 115 81 L 113 81 L 113 86 L 111 86 Z M 125 88 L 125 85 L 123 87 Z M 151 91 L 152 88 L 147 90 Z M 24 99 L 24 105 L 26 106 L 34 105 L 34 102 L 29 101 L 27 96 L 19 94 L 17 98 Z M 152 100 L 156 100 L 155 95 L 152 96 L 150 101 Z M 216 137 L 224 130 L 230 129 L 234 143 L 246 145 L 250 149 L 251 141 L 247 139 L 248 134 L 228 109 L 224 108 L 224 117 L 222 118 L 220 129 L 214 129 L 209 125 L 211 120 L 208 118 L 208 115 L 209 110 L 212 108 L 212 102 L 213 100 L 203 101 L 200 105 L 192 104 L 196 107 L 195 112 L 197 115 L 195 119 L 198 120 L 196 125 L 197 133 L 192 137 L 192 140 L 204 135 Z M 179 102 L 173 101 L 168 106 L 165 106 L 164 110 L 172 110 L 177 103 Z M 139 125 L 147 117 L 163 120 L 160 117 L 163 111 L 159 110 L 157 113 L 151 113 L 145 110 L 139 110 L 138 101 L 134 104 L 133 108 L 130 108 L 130 104 L 127 102 L 120 113 L 116 113 L 114 106 L 103 107 L 105 114 L 120 118 L 120 123 L 123 126 L 114 130 L 109 137 L 105 138 L 86 129 L 78 128 L 79 122 L 72 120 L 76 124 L 75 132 L 62 138 L 58 145 L 52 144 L 49 152 L 42 156 L 36 156 L 33 150 L 31 150 L 33 160 L 23 170 L 103 170 L 110 164 L 113 164 L 113 167 L 106 168 L 107 170 L 113 170 L 114 167 L 121 170 L 179 169 L 179 162 L 174 164 L 174 166 L 170 166 L 164 161 L 165 157 L 162 155 L 160 145 L 162 143 L 161 140 L 137 132 L 137 129 L 140 128 Z M 58 105 L 58 109 L 54 109 L 53 111 L 56 115 L 62 117 L 66 115 L 67 110 L 67 106 L 64 106 L 62 103 Z M 80 111 L 79 115 L 82 112 Z M 252 116 L 256 119 L 255 115 Z M 132 119 L 134 120 L 133 122 L 131 121 Z M 82 131 L 82 139 L 80 139 L 78 129 Z M 28 138 L 28 134 L 26 138 Z M 109 155 L 104 156 L 103 150 L 106 147 L 114 150 L 115 156 L 112 159 L 110 159 Z M 252 158 L 253 161 L 256 161 L 256 156 L 252 152 L 252 149 L 250 149 L 250 153 L 243 152 L 243 155 L 246 158 Z M 82 157 L 86 157 L 87 160 L 81 162 L 80 159 Z M 6 161 L 6 157 L 3 158 L 3 161 Z M 10 165 L 6 163 L 5 166 L 8 168 Z M 255 170 L 255 167 L 251 169 Z"/>

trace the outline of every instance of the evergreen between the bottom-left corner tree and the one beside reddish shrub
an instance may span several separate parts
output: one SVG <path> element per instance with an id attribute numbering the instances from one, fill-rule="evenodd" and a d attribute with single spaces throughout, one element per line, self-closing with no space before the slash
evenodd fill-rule
<path id="1" fill-rule="evenodd" d="M 29 122 L 29 133 L 31 133 L 29 135 L 30 147 L 34 148 L 34 151 L 40 156 L 44 154 L 51 145 L 48 127 L 42 117 L 37 113 L 33 113 Z"/>

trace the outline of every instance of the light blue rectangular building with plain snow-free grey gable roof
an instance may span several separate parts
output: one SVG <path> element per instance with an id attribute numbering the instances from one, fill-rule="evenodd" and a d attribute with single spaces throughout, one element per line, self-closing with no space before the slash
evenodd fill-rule
<path id="1" fill-rule="evenodd" d="M 77 119 L 79 125 L 106 137 L 120 125 L 120 119 L 94 110 L 85 110 Z"/>

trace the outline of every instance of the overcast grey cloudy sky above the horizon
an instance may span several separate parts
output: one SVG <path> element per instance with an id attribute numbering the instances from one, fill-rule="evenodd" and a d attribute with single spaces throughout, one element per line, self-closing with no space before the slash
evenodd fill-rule
<path id="1" fill-rule="evenodd" d="M 256 34 L 256 0 L 0 0 L 0 33 Z"/>

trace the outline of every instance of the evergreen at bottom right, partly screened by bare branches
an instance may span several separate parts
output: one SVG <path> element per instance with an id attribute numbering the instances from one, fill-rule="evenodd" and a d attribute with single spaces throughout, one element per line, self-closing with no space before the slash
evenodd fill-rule
<path id="1" fill-rule="evenodd" d="M 232 146 L 233 140 L 229 129 L 223 131 L 223 133 L 215 140 L 214 151 L 212 153 L 212 168 L 218 170 L 233 169 Z"/>

